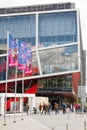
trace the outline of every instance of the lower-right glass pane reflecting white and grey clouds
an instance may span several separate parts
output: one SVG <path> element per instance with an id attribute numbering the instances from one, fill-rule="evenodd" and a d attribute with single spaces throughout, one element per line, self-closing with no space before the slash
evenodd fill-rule
<path id="1" fill-rule="evenodd" d="M 42 73 L 50 74 L 77 70 L 77 54 L 77 45 L 40 51 Z"/>

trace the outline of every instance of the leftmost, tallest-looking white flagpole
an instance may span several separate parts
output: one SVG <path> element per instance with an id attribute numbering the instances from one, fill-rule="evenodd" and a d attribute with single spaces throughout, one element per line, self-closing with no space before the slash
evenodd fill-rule
<path id="1" fill-rule="evenodd" d="M 7 109 L 7 85 L 8 85 L 8 44 L 9 44 L 9 31 L 7 31 L 7 57 L 6 57 L 6 86 L 5 86 L 5 98 L 4 98 L 4 126 L 6 126 L 6 109 Z"/>

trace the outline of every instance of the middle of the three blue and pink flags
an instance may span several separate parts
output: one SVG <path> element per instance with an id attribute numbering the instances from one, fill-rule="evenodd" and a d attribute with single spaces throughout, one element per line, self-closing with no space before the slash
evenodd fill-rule
<path id="1" fill-rule="evenodd" d="M 26 42 L 18 41 L 18 69 L 26 68 Z"/>

